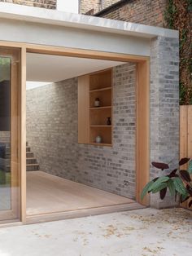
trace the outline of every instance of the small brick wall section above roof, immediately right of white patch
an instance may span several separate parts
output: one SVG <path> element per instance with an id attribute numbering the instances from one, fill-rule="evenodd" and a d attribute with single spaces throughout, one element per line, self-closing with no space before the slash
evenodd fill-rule
<path id="1" fill-rule="evenodd" d="M 119 0 L 103 0 L 103 8 L 111 6 Z M 94 13 L 102 10 L 101 0 L 81 0 L 80 13 L 85 14 L 87 11 L 94 9 Z"/>

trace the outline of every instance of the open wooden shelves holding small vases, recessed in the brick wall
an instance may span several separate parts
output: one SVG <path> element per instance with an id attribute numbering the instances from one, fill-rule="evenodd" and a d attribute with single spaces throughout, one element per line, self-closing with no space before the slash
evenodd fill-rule
<path id="1" fill-rule="evenodd" d="M 99 107 L 94 107 L 98 98 Z M 107 125 L 107 117 L 111 125 Z M 89 76 L 89 143 L 96 143 L 97 136 L 102 137 L 101 145 L 112 144 L 112 70 L 107 69 Z"/>

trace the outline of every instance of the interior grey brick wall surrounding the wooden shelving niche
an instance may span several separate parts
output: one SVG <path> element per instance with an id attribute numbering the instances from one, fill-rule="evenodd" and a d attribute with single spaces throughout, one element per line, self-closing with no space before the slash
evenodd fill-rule
<path id="1" fill-rule="evenodd" d="M 77 78 L 27 91 L 27 139 L 41 170 L 135 197 L 135 70 L 114 68 L 112 148 L 77 143 Z"/>

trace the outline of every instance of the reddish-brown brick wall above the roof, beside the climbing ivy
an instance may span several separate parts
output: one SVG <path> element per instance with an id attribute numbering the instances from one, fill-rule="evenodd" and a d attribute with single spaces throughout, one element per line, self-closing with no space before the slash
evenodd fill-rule
<path id="1" fill-rule="evenodd" d="M 166 2 L 167 0 L 128 0 L 98 16 L 163 27 Z"/>

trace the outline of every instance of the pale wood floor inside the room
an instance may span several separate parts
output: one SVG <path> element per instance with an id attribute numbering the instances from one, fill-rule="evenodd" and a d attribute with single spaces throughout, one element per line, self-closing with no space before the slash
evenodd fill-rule
<path id="1" fill-rule="evenodd" d="M 46 174 L 27 172 L 27 215 L 127 205 L 133 200 Z"/>

